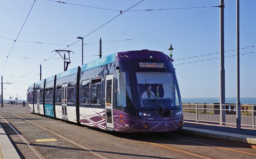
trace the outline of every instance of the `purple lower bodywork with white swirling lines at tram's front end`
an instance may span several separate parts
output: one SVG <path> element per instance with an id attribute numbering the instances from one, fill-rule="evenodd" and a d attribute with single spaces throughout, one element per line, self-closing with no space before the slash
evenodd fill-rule
<path id="1" fill-rule="evenodd" d="M 138 119 L 138 116 L 113 110 L 114 131 L 116 132 L 166 132 L 183 127 L 183 118 L 158 117 L 158 120 Z M 106 129 L 105 111 L 93 115 L 80 114 L 81 124 Z"/>

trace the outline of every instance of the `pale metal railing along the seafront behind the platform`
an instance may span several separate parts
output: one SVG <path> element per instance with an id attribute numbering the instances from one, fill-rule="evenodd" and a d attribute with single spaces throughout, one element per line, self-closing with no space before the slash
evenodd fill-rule
<path id="1" fill-rule="evenodd" d="M 220 125 L 236 125 L 236 105 L 226 104 L 220 116 L 219 104 L 183 103 L 185 121 L 219 123 Z M 241 126 L 256 128 L 256 105 L 241 105 Z"/>

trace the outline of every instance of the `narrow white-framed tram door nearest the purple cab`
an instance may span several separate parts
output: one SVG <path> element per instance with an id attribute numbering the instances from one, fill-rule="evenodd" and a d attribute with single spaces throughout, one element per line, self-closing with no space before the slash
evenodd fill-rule
<path id="1" fill-rule="evenodd" d="M 114 128 L 113 122 L 113 74 L 106 75 L 105 83 L 106 127 Z"/>

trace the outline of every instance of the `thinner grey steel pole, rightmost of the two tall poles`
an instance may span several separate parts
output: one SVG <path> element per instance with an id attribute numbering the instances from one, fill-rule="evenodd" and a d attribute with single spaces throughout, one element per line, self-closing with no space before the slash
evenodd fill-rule
<path id="1" fill-rule="evenodd" d="M 237 101 L 236 101 L 236 128 L 241 128 L 240 102 L 240 38 L 239 38 L 239 0 L 236 0 L 236 71 L 237 71 Z"/>

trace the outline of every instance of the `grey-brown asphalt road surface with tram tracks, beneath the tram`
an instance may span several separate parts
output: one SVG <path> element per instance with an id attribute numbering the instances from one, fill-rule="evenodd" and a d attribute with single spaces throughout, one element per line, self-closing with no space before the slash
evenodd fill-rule
<path id="1" fill-rule="evenodd" d="M 150 134 L 104 132 L 96 128 L 32 114 L 26 110 L 24 106 L 6 105 L 0 108 L 0 115 L 46 159 L 252 159 L 256 157 L 256 149 L 241 143 L 177 132 Z M 22 159 L 37 158 L 2 118 L 0 122 Z M 37 139 L 44 139 L 44 142 L 37 142 Z M 46 139 L 55 140 L 46 141 Z"/>

